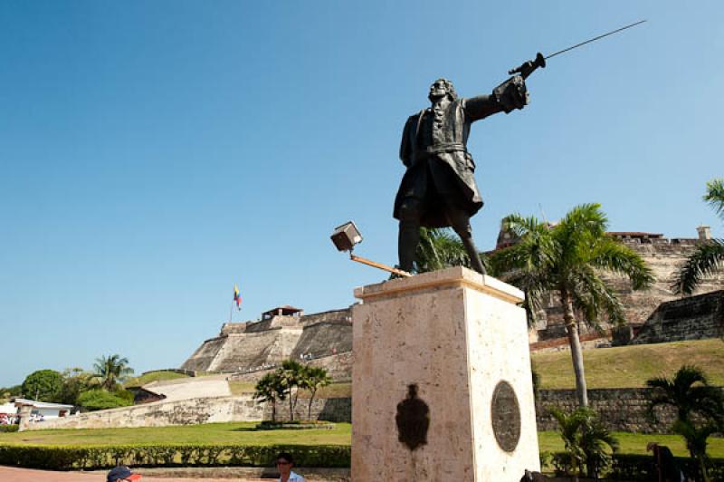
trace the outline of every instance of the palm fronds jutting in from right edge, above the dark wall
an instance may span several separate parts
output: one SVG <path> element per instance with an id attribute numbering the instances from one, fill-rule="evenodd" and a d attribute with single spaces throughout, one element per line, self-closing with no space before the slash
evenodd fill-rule
<path id="1" fill-rule="evenodd" d="M 707 183 L 704 200 L 724 220 L 724 179 L 712 179 Z M 703 278 L 713 275 L 722 266 L 724 266 L 724 240 L 710 239 L 701 243 L 681 266 L 672 282 L 672 291 L 674 294 L 691 294 Z"/>

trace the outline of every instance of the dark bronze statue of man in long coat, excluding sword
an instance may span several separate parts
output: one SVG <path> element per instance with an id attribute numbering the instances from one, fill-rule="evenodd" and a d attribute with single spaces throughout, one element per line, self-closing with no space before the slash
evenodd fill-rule
<path id="1" fill-rule="evenodd" d="M 460 99 L 447 79 L 430 87 L 432 106 L 405 123 L 400 159 L 407 167 L 395 198 L 394 216 L 400 221 L 400 268 L 412 271 L 420 227 L 452 227 L 470 256 L 472 267 L 485 268 L 472 241 L 470 217 L 482 207 L 467 149 L 472 122 L 491 114 L 522 109 L 528 92 L 519 75 L 496 87 L 491 95 Z"/>

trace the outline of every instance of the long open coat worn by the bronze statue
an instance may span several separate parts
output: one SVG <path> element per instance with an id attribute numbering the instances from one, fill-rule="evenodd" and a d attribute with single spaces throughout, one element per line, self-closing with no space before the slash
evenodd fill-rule
<path id="1" fill-rule="evenodd" d="M 433 129 L 431 109 L 420 111 L 407 119 L 400 145 L 400 159 L 407 171 L 395 197 L 395 218 L 400 218 L 400 205 L 405 198 L 418 197 L 416 191 L 420 190 L 419 178 L 435 176 L 435 172 L 440 173 L 441 169 L 452 169 L 452 178 L 459 188 L 459 195 L 454 199 L 456 204 L 469 216 L 480 210 L 483 203 L 473 176 L 475 162 L 467 150 L 468 135 L 472 122 L 500 111 L 503 109 L 493 96 L 481 95 L 452 101 L 443 112 L 442 124 L 432 133 L 421 131 Z M 424 163 L 442 165 L 435 164 L 434 169 L 430 169 Z M 449 227 L 450 223 L 444 212 L 446 199 L 426 200 L 428 202 L 425 204 L 420 224 L 424 227 Z"/>

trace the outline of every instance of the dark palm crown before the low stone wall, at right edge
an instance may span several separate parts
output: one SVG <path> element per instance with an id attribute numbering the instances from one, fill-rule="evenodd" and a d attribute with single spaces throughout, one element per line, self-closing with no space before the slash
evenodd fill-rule
<path id="1" fill-rule="evenodd" d="M 649 410 L 668 405 L 676 410 L 677 419 L 691 422 L 692 414 L 724 424 L 724 394 L 719 387 L 712 387 L 704 371 L 693 365 L 684 365 L 673 379 L 656 377 L 646 381 L 653 389 Z"/>

